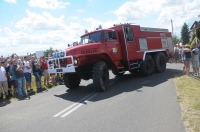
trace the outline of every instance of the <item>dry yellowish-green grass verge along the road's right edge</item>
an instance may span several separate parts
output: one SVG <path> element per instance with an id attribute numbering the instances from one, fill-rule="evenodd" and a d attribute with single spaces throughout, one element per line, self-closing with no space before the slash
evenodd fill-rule
<path id="1" fill-rule="evenodd" d="M 185 127 L 191 132 L 200 132 L 200 80 L 180 76 L 175 77 L 174 82 Z"/>

